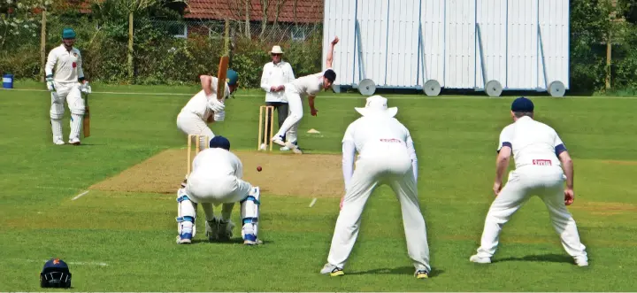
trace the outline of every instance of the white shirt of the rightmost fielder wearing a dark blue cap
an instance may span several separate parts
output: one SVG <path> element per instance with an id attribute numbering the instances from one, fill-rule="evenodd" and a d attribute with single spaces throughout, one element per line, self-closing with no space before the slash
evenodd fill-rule
<path id="1" fill-rule="evenodd" d="M 513 153 L 516 168 L 521 166 L 560 166 L 557 156 L 566 150 L 555 129 L 523 116 L 504 127 L 500 133 L 498 152 L 508 146 Z"/>

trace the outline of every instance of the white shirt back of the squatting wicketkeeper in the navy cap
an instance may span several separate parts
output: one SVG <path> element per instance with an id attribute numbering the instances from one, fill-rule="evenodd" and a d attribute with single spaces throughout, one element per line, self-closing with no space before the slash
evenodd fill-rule
<path id="1" fill-rule="evenodd" d="M 221 148 L 200 151 L 193 160 L 191 176 L 243 177 L 241 160 L 234 153 Z"/>

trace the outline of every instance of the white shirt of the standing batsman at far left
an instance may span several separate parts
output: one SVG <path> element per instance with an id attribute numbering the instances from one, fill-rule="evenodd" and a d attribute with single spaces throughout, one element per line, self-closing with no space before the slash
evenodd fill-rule
<path id="1" fill-rule="evenodd" d="M 78 82 L 84 77 L 80 50 L 73 47 L 66 50 L 64 44 L 50 50 L 44 72 L 53 75 L 56 82 Z"/>

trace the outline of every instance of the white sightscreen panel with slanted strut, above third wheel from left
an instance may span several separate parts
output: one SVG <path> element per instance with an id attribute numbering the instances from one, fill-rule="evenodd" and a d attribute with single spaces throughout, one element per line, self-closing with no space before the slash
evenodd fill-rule
<path id="1" fill-rule="evenodd" d="M 506 13 L 507 0 L 477 0 L 480 38 L 476 42 L 476 86 L 483 89 L 488 81 L 506 84 Z M 480 54 L 480 43 L 482 52 Z M 484 60 L 482 60 L 484 58 Z M 484 64 L 484 72 L 482 68 Z M 486 81 L 483 80 L 486 75 Z"/>

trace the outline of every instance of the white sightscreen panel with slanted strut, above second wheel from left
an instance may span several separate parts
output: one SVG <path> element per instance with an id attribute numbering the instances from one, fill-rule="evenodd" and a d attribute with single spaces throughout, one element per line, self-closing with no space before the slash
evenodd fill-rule
<path id="1" fill-rule="evenodd" d="M 424 52 L 425 68 L 420 64 L 420 81 L 423 85 L 426 81 L 435 80 L 445 86 L 444 47 L 445 47 L 445 1 L 421 0 L 422 2 L 422 35 L 421 41 Z M 425 75 L 423 77 L 423 75 Z M 423 81 L 424 80 L 424 81 Z"/>

